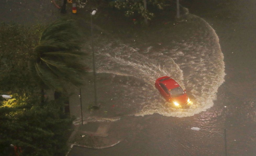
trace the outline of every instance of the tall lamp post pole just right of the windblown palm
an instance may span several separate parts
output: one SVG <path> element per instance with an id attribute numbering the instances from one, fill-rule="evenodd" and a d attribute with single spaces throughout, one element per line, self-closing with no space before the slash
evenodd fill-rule
<path id="1" fill-rule="evenodd" d="M 95 68 L 95 55 L 94 55 L 94 45 L 93 45 L 92 14 L 91 14 L 91 34 L 92 34 L 92 62 L 93 62 L 93 83 L 94 83 L 94 106 L 97 106 L 96 68 Z"/>

